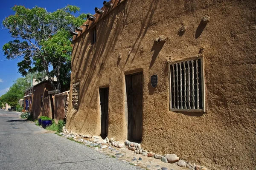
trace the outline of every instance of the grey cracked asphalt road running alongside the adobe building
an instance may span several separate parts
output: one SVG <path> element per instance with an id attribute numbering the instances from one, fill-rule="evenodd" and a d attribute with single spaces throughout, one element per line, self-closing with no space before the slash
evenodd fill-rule
<path id="1" fill-rule="evenodd" d="M 0 109 L 0 170 L 137 170 Z"/>

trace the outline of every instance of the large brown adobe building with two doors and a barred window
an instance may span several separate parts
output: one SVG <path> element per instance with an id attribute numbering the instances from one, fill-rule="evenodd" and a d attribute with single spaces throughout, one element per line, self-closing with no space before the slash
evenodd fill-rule
<path id="1" fill-rule="evenodd" d="M 67 129 L 255 169 L 255 0 L 110 3 L 72 33 Z"/>

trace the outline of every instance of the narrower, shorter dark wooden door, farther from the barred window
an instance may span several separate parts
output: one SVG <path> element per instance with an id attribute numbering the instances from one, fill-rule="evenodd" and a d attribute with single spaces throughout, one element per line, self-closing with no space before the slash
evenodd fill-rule
<path id="1" fill-rule="evenodd" d="M 101 135 L 108 136 L 108 88 L 99 89 L 101 108 Z"/>

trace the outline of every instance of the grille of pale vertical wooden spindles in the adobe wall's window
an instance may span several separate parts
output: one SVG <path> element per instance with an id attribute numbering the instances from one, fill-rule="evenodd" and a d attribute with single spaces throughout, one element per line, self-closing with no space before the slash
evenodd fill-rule
<path id="1" fill-rule="evenodd" d="M 204 111 L 202 58 L 170 65 L 170 108 L 172 111 Z"/>

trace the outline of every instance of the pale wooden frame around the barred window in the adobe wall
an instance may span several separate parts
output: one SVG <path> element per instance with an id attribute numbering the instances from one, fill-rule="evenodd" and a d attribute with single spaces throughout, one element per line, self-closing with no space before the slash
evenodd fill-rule
<path id="1" fill-rule="evenodd" d="M 201 59 L 201 86 L 202 86 L 202 108 L 201 109 L 174 109 L 172 108 L 172 78 L 171 78 L 171 67 L 173 64 L 180 63 L 180 62 L 187 62 L 191 60 Z M 168 62 L 168 69 L 169 69 L 169 111 L 176 111 L 176 112 L 206 112 L 205 107 L 205 80 L 204 80 L 204 57 L 197 56 L 197 57 L 190 57 L 187 59 L 177 60 L 175 62 L 169 61 Z"/>

